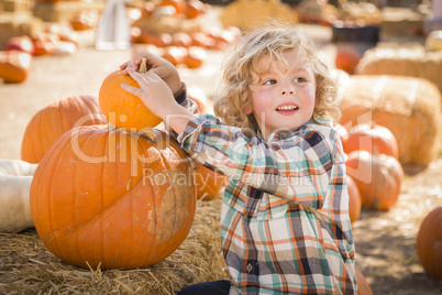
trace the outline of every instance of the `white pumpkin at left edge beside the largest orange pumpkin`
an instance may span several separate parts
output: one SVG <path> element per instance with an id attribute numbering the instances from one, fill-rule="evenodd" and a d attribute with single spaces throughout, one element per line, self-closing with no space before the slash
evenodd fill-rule
<path id="1" fill-rule="evenodd" d="M 30 189 L 37 164 L 0 160 L 0 232 L 33 228 Z"/>

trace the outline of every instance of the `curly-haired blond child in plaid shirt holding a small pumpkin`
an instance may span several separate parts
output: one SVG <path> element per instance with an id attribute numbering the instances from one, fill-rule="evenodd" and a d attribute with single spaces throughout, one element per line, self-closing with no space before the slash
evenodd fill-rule
<path id="1" fill-rule="evenodd" d="M 141 57 L 151 69 L 134 69 Z M 224 65 L 213 116 L 189 110 L 177 70 L 150 53 L 122 85 L 178 133 L 196 161 L 229 176 L 221 242 L 230 280 L 180 294 L 355 294 L 345 163 L 331 128 L 336 86 L 313 43 L 290 26 L 251 32 Z M 176 99 L 174 98 L 177 97 Z"/>

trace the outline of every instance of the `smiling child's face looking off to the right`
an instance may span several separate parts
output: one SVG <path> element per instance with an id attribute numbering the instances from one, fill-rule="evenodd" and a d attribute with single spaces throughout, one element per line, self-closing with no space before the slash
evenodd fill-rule
<path id="1" fill-rule="evenodd" d="M 314 110 L 316 78 L 311 64 L 296 50 L 283 53 L 283 57 L 287 65 L 269 56 L 259 61 L 263 74 L 252 73 L 258 83 L 251 87 L 251 105 L 243 109 L 245 114 L 254 114 L 265 138 L 275 131 L 299 128 Z"/>

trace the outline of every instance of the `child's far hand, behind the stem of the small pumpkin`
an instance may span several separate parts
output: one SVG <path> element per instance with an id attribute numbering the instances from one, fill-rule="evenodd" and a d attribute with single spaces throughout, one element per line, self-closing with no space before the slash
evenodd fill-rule
<path id="1" fill-rule="evenodd" d="M 164 79 L 173 94 L 177 92 L 181 88 L 181 80 L 176 67 L 165 58 L 146 51 L 135 53 L 132 59 L 120 65 L 120 68 L 124 69 L 124 72 L 128 74 L 128 67 L 137 70 L 142 57 L 145 57 L 147 61 L 147 73 L 154 73 L 159 78 Z"/>

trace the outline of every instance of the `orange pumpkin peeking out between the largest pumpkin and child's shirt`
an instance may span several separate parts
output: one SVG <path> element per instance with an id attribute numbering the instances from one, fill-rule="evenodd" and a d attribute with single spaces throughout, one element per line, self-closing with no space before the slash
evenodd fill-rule
<path id="1" fill-rule="evenodd" d="M 211 171 L 202 165 L 197 165 L 194 171 L 195 185 L 198 199 L 212 199 L 220 195 L 226 185 L 228 177 L 221 173 Z"/>

